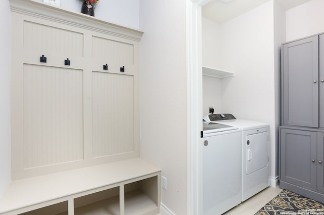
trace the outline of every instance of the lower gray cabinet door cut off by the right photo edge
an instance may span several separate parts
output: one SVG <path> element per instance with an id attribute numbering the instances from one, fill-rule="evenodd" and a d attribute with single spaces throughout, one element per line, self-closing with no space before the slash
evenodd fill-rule
<path id="1" fill-rule="evenodd" d="M 317 133 L 317 190 L 324 192 L 324 133 Z"/>

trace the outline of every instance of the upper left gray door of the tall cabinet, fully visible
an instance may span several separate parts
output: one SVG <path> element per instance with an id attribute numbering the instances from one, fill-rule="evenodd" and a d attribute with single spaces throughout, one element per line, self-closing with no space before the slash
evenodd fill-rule
<path id="1" fill-rule="evenodd" d="M 318 36 L 282 46 L 284 125 L 318 127 Z"/>

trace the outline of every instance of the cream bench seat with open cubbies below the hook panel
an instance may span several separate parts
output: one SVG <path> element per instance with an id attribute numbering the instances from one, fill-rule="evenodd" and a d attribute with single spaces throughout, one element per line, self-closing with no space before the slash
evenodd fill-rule
<path id="1" fill-rule="evenodd" d="M 11 182 L 1 215 L 156 215 L 160 169 L 141 158 Z"/>

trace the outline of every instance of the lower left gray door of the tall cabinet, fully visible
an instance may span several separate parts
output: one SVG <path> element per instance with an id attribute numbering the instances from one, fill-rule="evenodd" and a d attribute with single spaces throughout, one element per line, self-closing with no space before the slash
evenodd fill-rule
<path id="1" fill-rule="evenodd" d="M 316 132 L 281 128 L 280 180 L 316 189 Z"/>

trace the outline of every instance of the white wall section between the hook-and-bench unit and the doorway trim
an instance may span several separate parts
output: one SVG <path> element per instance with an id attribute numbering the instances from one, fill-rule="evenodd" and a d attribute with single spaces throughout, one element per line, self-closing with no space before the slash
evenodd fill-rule
<path id="1" fill-rule="evenodd" d="M 185 1 L 140 0 L 141 156 L 167 178 L 161 203 L 187 214 Z M 163 208 L 164 211 L 165 208 Z"/>

